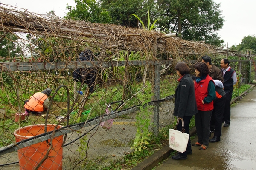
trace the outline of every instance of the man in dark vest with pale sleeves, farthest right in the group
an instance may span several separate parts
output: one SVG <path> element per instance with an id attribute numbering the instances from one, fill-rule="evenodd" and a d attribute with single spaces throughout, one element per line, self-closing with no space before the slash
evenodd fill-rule
<path id="1" fill-rule="evenodd" d="M 230 101 L 232 99 L 233 85 L 236 84 L 236 71 L 229 66 L 230 61 L 228 59 L 221 60 L 221 73 L 224 78 L 223 86 L 226 93 L 226 102 L 224 108 L 224 127 L 230 126 Z"/>

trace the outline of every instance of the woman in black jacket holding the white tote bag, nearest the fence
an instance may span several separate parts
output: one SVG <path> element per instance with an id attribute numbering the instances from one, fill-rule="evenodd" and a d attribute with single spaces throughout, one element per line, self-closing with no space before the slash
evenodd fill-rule
<path id="1" fill-rule="evenodd" d="M 194 82 L 189 74 L 190 69 L 185 62 L 177 63 L 175 70 L 180 78 L 178 79 L 179 84 L 175 90 L 173 115 L 177 116 L 178 119 L 184 120 L 185 133 L 189 134 L 190 119 L 197 113 Z M 179 122 L 177 130 L 182 130 L 181 121 Z M 183 153 L 179 152 L 177 155 L 172 156 L 172 159 L 187 159 L 187 154 L 192 154 L 190 138 L 186 151 Z"/>

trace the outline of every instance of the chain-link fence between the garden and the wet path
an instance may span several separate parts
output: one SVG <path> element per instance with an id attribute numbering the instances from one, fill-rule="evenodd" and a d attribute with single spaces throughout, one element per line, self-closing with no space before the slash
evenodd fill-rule
<path id="1" fill-rule="evenodd" d="M 160 76 L 161 66 L 171 61 L 112 62 L 112 66 L 104 62 L 104 67 L 84 63 L 94 71 L 92 84 L 74 81 L 73 70 L 36 71 L 33 63 L 26 63 L 34 71 L 14 71 L 17 63 L 5 65 L 10 70 L 2 72 L 1 81 L 3 169 L 17 169 L 17 161 L 24 169 L 36 167 L 43 157 L 48 158 L 41 162 L 44 167 L 50 159 L 51 166 L 62 164 L 67 170 L 101 169 L 140 147 L 131 149 L 136 136 L 157 135 L 159 129 L 172 124 L 177 77 Z M 25 116 L 24 101 L 47 87 L 52 89 L 48 110 Z M 113 125 L 109 125 L 111 120 Z M 54 130 L 50 125 L 60 125 L 54 138 L 52 132 L 47 133 Z"/>

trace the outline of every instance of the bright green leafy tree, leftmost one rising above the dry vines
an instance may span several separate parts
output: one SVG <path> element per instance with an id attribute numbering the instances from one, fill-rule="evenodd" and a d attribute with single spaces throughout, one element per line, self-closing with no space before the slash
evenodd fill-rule
<path id="1" fill-rule="evenodd" d="M 75 0 L 76 8 L 67 4 L 69 12 L 65 16 L 67 19 L 87 20 L 91 23 L 112 23 L 108 11 L 100 6 L 96 0 Z"/>

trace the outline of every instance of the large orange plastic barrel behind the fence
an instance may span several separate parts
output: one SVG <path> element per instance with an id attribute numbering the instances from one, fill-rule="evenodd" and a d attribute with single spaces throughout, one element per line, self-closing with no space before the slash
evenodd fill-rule
<path id="1" fill-rule="evenodd" d="M 55 126 L 56 125 L 47 124 L 47 132 L 54 130 Z M 14 135 L 16 142 L 44 133 L 44 127 L 44 124 L 29 125 L 15 130 Z M 58 128 L 61 127 L 61 125 L 58 126 Z M 49 152 L 48 158 L 44 161 L 41 167 L 38 168 L 38 170 L 62 170 L 62 143 L 63 135 L 53 139 L 53 146 Z M 47 141 L 43 141 L 17 150 L 20 170 L 33 170 L 44 158 L 49 147 L 50 146 L 47 144 Z"/>

